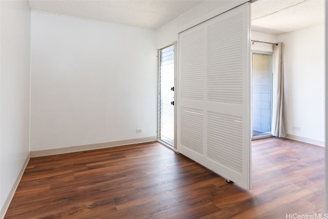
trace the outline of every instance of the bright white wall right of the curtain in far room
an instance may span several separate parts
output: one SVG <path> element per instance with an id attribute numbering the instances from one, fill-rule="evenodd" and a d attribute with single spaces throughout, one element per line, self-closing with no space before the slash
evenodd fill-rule
<path id="1" fill-rule="evenodd" d="M 277 36 L 284 43 L 288 137 L 324 145 L 324 25 Z M 300 127 L 300 131 L 293 130 Z"/>

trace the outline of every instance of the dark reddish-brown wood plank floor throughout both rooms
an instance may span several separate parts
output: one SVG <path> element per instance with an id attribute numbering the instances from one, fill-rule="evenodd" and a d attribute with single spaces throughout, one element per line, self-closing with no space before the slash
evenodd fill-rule
<path id="1" fill-rule="evenodd" d="M 252 149 L 252 190 L 156 142 L 31 158 L 5 218 L 323 216 L 324 148 L 267 138 Z"/>

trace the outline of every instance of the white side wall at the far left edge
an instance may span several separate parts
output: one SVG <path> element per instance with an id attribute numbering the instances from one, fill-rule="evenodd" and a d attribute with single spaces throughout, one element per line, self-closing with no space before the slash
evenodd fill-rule
<path id="1" fill-rule="evenodd" d="M 2 218 L 29 158 L 30 7 L 1 1 L 0 207 Z"/>

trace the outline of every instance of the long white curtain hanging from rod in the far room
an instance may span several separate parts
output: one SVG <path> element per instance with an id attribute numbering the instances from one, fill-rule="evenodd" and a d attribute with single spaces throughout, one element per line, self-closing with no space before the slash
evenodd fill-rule
<path id="1" fill-rule="evenodd" d="M 286 137 L 283 84 L 283 43 L 273 45 L 273 76 L 272 76 L 272 125 L 271 134 Z"/>

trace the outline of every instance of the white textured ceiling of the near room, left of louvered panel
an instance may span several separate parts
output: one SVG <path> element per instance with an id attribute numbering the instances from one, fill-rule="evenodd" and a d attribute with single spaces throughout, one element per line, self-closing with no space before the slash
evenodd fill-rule
<path id="1" fill-rule="evenodd" d="M 156 30 L 202 1 L 29 0 L 32 11 Z"/>

